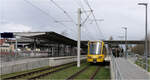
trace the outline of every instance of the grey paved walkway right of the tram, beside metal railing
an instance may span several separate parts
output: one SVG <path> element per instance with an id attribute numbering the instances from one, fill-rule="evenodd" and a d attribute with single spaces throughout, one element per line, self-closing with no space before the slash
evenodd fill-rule
<path id="1" fill-rule="evenodd" d="M 148 72 L 124 58 L 116 58 L 121 76 L 126 80 L 150 80 Z"/>

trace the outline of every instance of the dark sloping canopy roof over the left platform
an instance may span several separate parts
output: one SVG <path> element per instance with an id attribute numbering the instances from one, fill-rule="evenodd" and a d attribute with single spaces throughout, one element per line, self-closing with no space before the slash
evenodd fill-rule
<path id="1" fill-rule="evenodd" d="M 77 46 L 77 41 L 56 32 L 14 32 L 16 36 L 21 36 L 24 38 L 30 38 L 33 40 L 39 40 L 45 43 L 58 43 L 66 44 L 71 46 Z M 29 42 L 30 42 L 29 41 Z M 18 42 L 28 42 L 28 41 L 18 41 Z M 86 44 L 81 44 L 81 47 L 86 47 Z"/>

